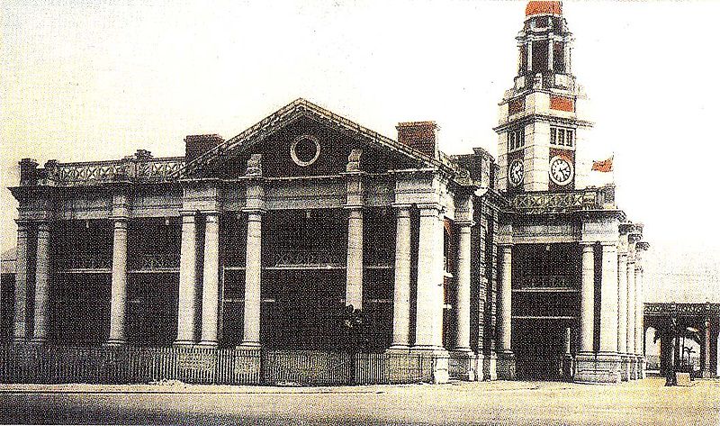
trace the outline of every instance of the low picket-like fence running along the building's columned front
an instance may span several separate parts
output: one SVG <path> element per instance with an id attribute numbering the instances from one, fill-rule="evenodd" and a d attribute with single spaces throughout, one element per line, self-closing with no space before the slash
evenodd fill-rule
<path id="1" fill-rule="evenodd" d="M 420 354 L 201 347 L 0 347 L 0 383 L 399 384 L 432 380 Z"/>

